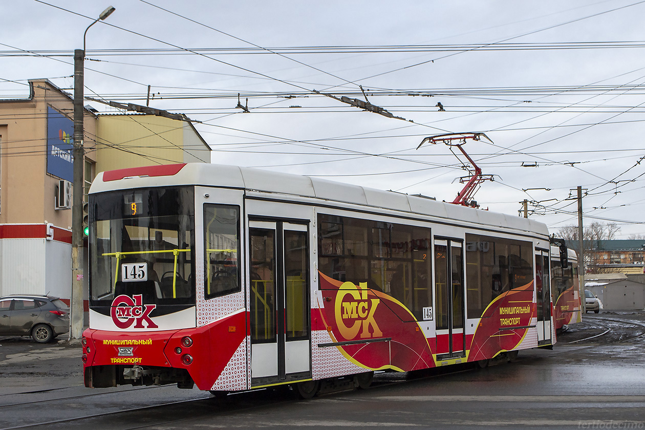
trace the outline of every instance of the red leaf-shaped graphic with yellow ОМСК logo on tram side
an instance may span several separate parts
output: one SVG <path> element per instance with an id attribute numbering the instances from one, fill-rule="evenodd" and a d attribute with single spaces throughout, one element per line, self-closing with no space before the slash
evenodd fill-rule
<path id="1" fill-rule="evenodd" d="M 339 345 L 348 360 L 367 369 L 410 371 L 433 367 L 434 360 L 415 317 L 398 300 L 367 288 L 365 282 L 341 282 L 320 273 L 321 317 L 334 342 L 378 340 Z"/>

